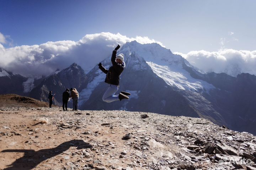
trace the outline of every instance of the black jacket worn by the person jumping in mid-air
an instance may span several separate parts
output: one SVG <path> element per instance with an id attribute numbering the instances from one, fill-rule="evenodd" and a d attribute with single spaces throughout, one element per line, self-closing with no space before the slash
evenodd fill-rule
<path id="1" fill-rule="evenodd" d="M 113 50 L 111 62 L 112 66 L 107 70 L 102 65 L 99 66 L 100 70 L 106 74 L 105 83 L 119 85 L 119 76 L 125 68 L 125 63 L 119 64 L 116 62 L 116 50 Z"/>

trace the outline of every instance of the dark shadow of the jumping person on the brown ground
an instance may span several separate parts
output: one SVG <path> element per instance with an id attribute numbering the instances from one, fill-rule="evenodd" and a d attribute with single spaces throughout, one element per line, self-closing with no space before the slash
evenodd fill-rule
<path id="1" fill-rule="evenodd" d="M 60 144 L 55 148 L 41 149 L 34 151 L 33 149 L 6 149 L 1 152 L 24 152 L 24 156 L 15 160 L 12 164 L 8 165 L 3 170 L 31 170 L 35 168 L 42 161 L 55 157 L 63 153 L 70 147 L 77 147 L 76 149 L 92 148 L 92 145 L 84 142 L 83 140 L 73 139 Z"/>

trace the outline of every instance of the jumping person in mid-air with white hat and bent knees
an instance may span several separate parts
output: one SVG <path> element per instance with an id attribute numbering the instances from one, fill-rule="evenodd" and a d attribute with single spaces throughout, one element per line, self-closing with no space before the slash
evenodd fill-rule
<path id="1" fill-rule="evenodd" d="M 118 95 L 115 95 L 115 93 L 119 89 L 119 76 L 123 72 L 125 68 L 125 62 L 124 62 L 124 55 L 117 54 L 117 50 L 120 48 L 120 45 L 117 45 L 117 47 L 112 52 L 111 62 L 112 66 L 107 70 L 102 66 L 101 63 L 98 64 L 100 70 L 106 74 L 105 83 L 109 84 L 109 87 L 107 91 L 104 93 L 102 100 L 104 102 L 110 103 L 116 100 L 122 100 L 122 99 L 129 99 L 127 95 L 130 95 L 128 92 L 121 92 Z"/>

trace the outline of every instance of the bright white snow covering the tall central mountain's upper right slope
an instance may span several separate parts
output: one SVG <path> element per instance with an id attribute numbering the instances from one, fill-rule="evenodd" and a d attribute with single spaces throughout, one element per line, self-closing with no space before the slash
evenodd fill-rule
<path id="1" fill-rule="evenodd" d="M 136 52 L 134 53 L 133 51 Z M 177 87 L 182 91 L 189 90 L 199 93 L 202 91 L 208 92 L 210 89 L 215 88 L 212 84 L 200 79 L 192 78 L 190 73 L 183 68 L 184 65 L 191 67 L 195 73 L 198 72 L 204 74 L 204 72 L 193 67 L 181 55 L 173 54 L 169 49 L 163 48 L 159 44 L 139 44 L 137 42 L 131 42 L 124 45 L 120 53 L 133 53 L 128 56 L 127 59 L 129 60 L 129 63 L 131 63 L 131 66 L 134 66 L 135 64 L 143 64 L 146 61 L 146 64 L 151 67 L 153 72 L 160 78 L 164 79 L 169 86 Z M 136 60 L 136 58 L 139 60 Z M 134 61 L 132 62 L 130 59 Z M 137 68 L 141 67 L 137 66 Z M 143 66 L 143 68 L 145 68 L 145 66 Z"/>

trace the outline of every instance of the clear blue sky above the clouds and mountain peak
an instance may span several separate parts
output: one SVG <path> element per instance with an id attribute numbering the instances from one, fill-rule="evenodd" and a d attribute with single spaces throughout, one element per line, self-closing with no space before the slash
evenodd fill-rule
<path id="1" fill-rule="evenodd" d="M 255 50 L 254 0 L 0 0 L 5 48 L 78 41 L 86 34 L 146 36 L 171 51 Z"/>

